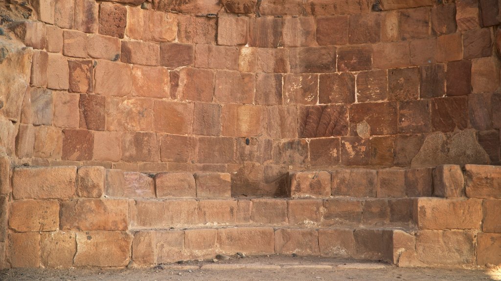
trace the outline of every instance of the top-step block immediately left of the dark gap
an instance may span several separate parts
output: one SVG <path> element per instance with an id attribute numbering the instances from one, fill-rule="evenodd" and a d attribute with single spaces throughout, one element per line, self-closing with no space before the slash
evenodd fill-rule
<path id="1" fill-rule="evenodd" d="M 194 174 L 194 177 L 196 183 L 196 197 L 231 197 L 231 177 L 229 173 L 197 172 Z"/>

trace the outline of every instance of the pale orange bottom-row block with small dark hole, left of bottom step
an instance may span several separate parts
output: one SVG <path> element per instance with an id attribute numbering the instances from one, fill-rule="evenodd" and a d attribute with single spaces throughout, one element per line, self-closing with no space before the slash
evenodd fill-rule
<path id="1" fill-rule="evenodd" d="M 110 243 L 113 241 L 113 243 Z M 126 266 L 132 235 L 122 231 L 77 232 L 76 266 Z"/>

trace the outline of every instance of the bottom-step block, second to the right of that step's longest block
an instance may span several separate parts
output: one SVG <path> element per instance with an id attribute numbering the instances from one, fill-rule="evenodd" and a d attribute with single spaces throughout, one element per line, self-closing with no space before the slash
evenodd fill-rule
<path id="1" fill-rule="evenodd" d="M 355 238 L 351 229 L 319 229 L 320 254 L 333 257 L 350 257 L 355 254 Z"/>

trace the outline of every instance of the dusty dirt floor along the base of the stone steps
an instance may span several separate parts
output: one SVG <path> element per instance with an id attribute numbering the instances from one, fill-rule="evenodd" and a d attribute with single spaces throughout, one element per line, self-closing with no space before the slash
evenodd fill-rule
<path id="1" fill-rule="evenodd" d="M 501 270 L 399 268 L 386 263 L 320 257 L 253 256 L 150 268 L 10 269 L 0 280 L 501 280 Z"/>

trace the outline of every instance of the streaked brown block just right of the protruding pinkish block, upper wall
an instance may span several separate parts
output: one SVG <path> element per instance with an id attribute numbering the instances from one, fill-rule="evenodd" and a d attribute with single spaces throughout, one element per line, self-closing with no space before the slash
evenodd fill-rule
<path id="1" fill-rule="evenodd" d="M 249 46 L 276 48 L 281 38 L 281 18 L 256 17 L 249 20 Z"/>

